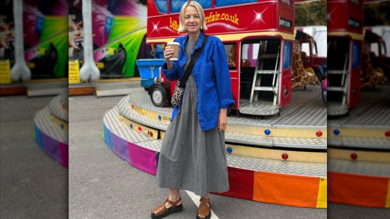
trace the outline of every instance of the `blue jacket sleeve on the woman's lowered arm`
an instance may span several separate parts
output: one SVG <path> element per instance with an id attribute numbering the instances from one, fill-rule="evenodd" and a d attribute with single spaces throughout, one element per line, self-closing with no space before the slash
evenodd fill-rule
<path id="1" fill-rule="evenodd" d="M 213 54 L 213 67 L 215 74 L 216 90 L 219 98 L 219 108 L 227 108 L 234 105 L 231 98 L 231 79 L 227 65 L 226 53 L 223 43 L 216 38 Z"/>

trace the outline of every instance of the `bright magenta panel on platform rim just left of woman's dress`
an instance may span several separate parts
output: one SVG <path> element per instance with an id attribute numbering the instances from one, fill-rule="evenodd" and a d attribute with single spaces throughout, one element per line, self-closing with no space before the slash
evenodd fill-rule
<path id="1" fill-rule="evenodd" d="M 135 143 L 128 142 L 128 153 L 131 159 L 130 164 L 138 169 L 156 175 L 156 151 L 138 146 Z"/>

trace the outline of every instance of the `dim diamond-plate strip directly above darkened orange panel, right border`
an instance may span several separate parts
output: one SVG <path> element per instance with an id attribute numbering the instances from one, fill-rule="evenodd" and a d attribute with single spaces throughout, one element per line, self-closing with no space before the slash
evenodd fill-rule
<path id="1" fill-rule="evenodd" d="M 328 159 L 329 171 L 390 177 L 390 164 L 380 162 L 359 162 L 353 160 Z"/>

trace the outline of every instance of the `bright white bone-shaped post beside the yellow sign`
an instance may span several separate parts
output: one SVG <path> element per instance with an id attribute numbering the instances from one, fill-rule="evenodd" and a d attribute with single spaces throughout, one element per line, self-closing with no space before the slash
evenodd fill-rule
<path id="1" fill-rule="evenodd" d="M 100 78 L 100 71 L 93 60 L 91 6 L 91 0 L 82 0 L 84 64 L 80 68 L 80 79 L 96 81 Z"/>

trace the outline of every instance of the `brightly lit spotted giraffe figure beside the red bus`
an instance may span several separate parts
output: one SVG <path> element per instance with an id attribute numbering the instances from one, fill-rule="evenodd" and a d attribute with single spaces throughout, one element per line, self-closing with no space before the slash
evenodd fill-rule
<path id="1" fill-rule="evenodd" d="M 304 87 L 306 83 L 321 85 L 318 78 L 314 74 L 313 68 L 303 67 L 302 59 L 300 56 L 299 43 L 296 40 L 293 43 L 293 66 L 291 69 L 291 75 L 291 88 L 295 86 Z"/>

